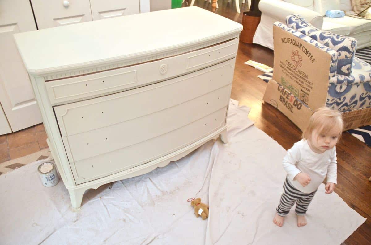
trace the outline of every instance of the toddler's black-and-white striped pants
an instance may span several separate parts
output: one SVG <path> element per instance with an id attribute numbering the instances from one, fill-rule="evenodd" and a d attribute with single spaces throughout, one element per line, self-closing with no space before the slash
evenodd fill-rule
<path id="1" fill-rule="evenodd" d="M 311 193 L 301 192 L 290 184 L 288 178 L 287 176 L 285 184 L 283 184 L 283 193 L 276 209 L 277 214 L 285 217 L 296 202 L 295 213 L 297 215 L 305 215 L 316 191 Z"/>

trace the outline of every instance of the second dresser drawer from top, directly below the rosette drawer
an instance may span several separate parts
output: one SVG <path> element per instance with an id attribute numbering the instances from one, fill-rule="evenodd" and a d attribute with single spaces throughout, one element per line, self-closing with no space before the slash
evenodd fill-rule
<path id="1" fill-rule="evenodd" d="M 235 58 L 161 83 L 55 106 L 60 133 L 64 137 L 104 128 L 208 94 L 232 83 L 234 63 Z"/>

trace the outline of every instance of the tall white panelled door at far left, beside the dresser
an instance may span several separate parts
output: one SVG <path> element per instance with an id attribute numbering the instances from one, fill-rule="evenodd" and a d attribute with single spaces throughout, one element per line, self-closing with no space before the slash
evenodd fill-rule
<path id="1" fill-rule="evenodd" d="M 0 12 L 0 103 L 10 127 L 17 131 L 42 122 L 13 38 L 14 33 L 36 30 L 36 25 L 29 0 L 1 0 Z"/>

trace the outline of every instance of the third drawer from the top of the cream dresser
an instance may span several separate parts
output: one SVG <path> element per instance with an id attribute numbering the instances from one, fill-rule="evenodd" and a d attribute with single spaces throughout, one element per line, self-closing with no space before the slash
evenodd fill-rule
<path id="1" fill-rule="evenodd" d="M 164 110 L 63 137 L 63 141 L 68 142 L 70 158 L 73 162 L 129 147 L 167 134 L 224 108 L 228 100 L 228 92 L 229 85 L 226 85 L 181 104 L 171 103 L 173 106 Z M 194 113 L 195 111 L 197 113 Z"/>

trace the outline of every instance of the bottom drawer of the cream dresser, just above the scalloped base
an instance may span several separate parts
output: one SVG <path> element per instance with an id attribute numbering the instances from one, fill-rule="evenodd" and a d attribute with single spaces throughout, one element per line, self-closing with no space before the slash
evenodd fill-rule
<path id="1" fill-rule="evenodd" d="M 127 170 L 177 151 L 224 126 L 226 113 L 227 107 L 224 107 L 158 137 L 74 162 L 72 164 L 76 168 L 76 184 Z"/>

